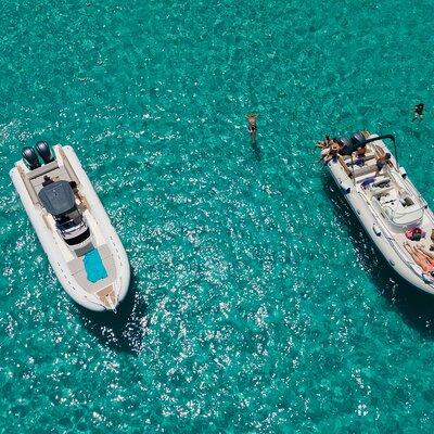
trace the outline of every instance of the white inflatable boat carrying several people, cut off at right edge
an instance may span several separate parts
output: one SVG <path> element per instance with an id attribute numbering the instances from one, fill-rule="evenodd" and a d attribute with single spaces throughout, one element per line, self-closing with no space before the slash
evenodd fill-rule
<path id="1" fill-rule="evenodd" d="M 347 155 L 330 155 L 327 166 L 391 267 L 409 283 L 434 294 L 434 272 L 430 269 L 434 267 L 427 256 L 434 258 L 430 250 L 434 248 L 433 213 L 382 139 L 395 143 L 393 136 L 379 137 L 366 131 L 340 138 L 336 142 L 349 152 L 342 152 L 341 148 L 340 153 Z M 366 149 L 363 157 L 357 155 L 360 145 Z M 384 164 L 385 154 L 390 155 Z M 425 269 L 411 254 L 414 248 L 426 258 L 422 264 Z"/>

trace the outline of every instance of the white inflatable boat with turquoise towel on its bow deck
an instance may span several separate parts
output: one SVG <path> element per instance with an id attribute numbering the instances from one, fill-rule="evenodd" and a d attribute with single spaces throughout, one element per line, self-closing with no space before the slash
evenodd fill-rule
<path id="1" fill-rule="evenodd" d="M 128 291 L 128 258 L 74 150 L 24 148 L 10 176 L 65 291 L 90 310 L 116 311 Z"/>

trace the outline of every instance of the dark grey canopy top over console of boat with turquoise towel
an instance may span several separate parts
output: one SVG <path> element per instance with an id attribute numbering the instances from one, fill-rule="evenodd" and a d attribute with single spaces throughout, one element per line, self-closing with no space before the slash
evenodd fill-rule
<path id="1" fill-rule="evenodd" d="M 53 216 L 60 216 L 75 208 L 73 189 L 67 181 L 56 181 L 39 192 L 43 207 Z"/>

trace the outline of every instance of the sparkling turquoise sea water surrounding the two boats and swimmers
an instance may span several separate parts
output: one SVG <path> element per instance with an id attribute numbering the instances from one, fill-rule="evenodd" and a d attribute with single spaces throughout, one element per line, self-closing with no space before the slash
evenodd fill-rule
<path id="1" fill-rule="evenodd" d="M 1 432 L 431 432 L 434 299 L 312 151 L 395 133 L 433 205 L 431 2 L 2 9 Z M 12 190 L 39 139 L 76 149 L 124 241 L 115 318 L 68 299 Z"/>

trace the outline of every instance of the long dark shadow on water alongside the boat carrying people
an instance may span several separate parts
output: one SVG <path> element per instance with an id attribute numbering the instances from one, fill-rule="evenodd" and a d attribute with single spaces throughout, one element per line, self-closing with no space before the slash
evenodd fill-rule
<path id="1" fill-rule="evenodd" d="M 339 220 L 348 229 L 349 238 L 363 268 L 369 271 L 381 294 L 391 306 L 403 314 L 411 327 L 421 334 L 434 339 L 434 295 L 418 290 L 393 271 L 328 174 L 323 174 L 322 184 L 326 195 L 333 203 Z"/>

